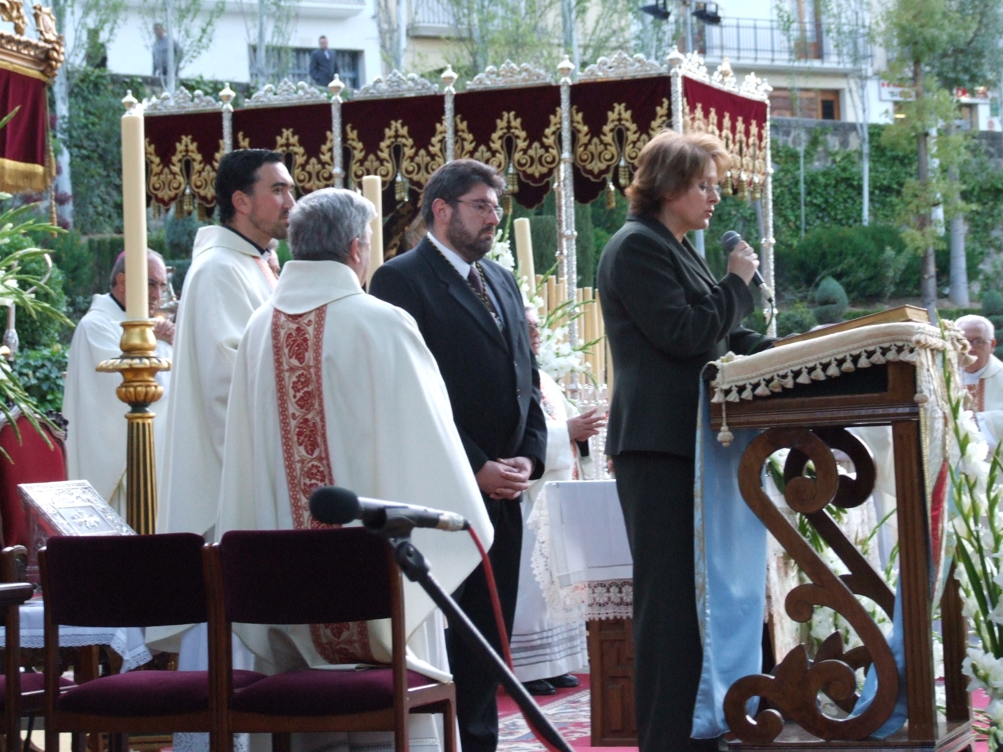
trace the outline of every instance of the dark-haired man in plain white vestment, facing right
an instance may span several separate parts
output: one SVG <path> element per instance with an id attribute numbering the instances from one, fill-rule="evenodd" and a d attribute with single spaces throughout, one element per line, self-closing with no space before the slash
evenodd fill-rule
<path id="1" fill-rule="evenodd" d="M 267 248 L 286 237 L 293 179 L 282 155 L 238 149 L 216 178 L 221 225 L 199 230 L 178 308 L 157 532 L 213 539 L 227 397 L 244 328 L 275 288 Z"/>

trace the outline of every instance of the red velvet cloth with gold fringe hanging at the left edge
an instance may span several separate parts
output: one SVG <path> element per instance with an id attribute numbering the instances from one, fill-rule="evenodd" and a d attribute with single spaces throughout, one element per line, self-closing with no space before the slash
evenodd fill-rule
<path id="1" fill-rule="evenodd" d="M 0 129 L 0 191 L 44 191 L 49 184 L 48 79 L 28 68 L 0 64 L 0 117 L 20 107 Z"/>

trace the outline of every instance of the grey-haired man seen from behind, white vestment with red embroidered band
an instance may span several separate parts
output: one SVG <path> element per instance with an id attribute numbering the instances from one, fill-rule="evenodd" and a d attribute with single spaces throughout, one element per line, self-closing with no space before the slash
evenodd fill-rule
<path id="1" fill-rule="evenodd" d="M 272 299 L 251 318 L 237 353 L 221 534 L 311 527 L 310 493 L 336 484 L 361 496 L 454 511 L 485 542 L 491 538 L 434 357 L 409 314 L 362 290 L 374 216 L 372 204 L 339 189 L 312 193 L 292 212 L 293 261 Z M 416 529 L 414 542 L 446 592 L 479 562 L 466 533 Z M 406 581 L 404 600 L 408 667 L 447 680 L 438 612 Z M 315 636 L 306 625 L 235 625 L 256 668 L 267 673 L 390 660 L 387 623 L 355 629 L 368 630 L 368 638 L 341 636 L 336 648 L 333 636 Z M 439 727 L 430 716 L 411 716 L 410 749 L 438 750 Z M 391 750 L 393 738 L 386 732 L 301 734 L 293 744 L 298 750 Z"/>

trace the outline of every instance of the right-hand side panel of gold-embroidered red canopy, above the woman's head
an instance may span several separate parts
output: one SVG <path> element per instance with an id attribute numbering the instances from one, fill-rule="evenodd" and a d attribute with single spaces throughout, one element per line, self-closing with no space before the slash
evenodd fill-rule
<path id="1" fill-rule="evenodd" d="M 721 176 L 725 195 L 758 199 L 766 179 L 769 125 L 766 102 L 683 76 L 683 131 L 718 136 L 731 165 Z"/>

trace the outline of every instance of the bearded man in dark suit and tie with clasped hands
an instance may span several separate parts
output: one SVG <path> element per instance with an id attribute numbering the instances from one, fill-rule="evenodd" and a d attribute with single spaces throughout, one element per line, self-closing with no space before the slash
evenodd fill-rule
<path id="1" fill-rule="evenodd" d="M 488 555 L 508 640 L 519 590 L 520 500 L 529 481 L 544 472 L 547 425 L 516 279 L 482 260 L 494 241 L 504 185 L 493 167 L 473 159 L 456 159 L 435 170 L 421 202 L 428 235 L 412 251 L 382 265 L 369 291 L 414 317 L 438 361 L 453 420 L 494 525 Z M 483 569 L 477 568 L 454 597 L 500 653 Z M 493 752 L 498 683 L 489 665 L 453 630 L 446 635 L 446 648 L 463 752 Z"/>

